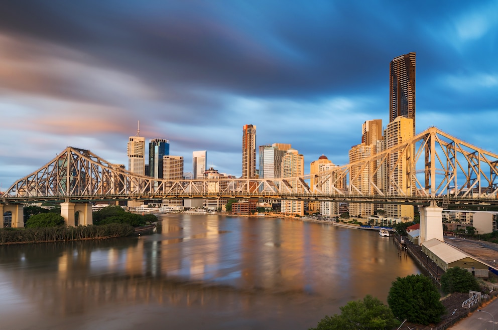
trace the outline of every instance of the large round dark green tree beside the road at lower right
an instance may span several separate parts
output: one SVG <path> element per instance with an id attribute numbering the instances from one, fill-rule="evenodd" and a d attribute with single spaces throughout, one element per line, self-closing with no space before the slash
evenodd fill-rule
<path id="1" fill-rule="evenodd" d="M 439 301 L 439 291 L 432 281 L 422 275 L 398 277 L 388 294 L 388 304 L 394 315 L 409 322 L 437 323 L 445 307 Z"/>

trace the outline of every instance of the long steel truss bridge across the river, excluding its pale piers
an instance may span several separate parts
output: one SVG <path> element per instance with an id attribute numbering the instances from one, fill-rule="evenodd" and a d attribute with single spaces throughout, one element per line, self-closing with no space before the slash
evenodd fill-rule
<path id="1" fill-rule="evenodd" d="M 498 155 L 431 127 L 360 161 L 280 179 L 160 180 L 67 147 L 0 202 L 264 198 L 448 206 L 498 205 L 497 196 Z"/>

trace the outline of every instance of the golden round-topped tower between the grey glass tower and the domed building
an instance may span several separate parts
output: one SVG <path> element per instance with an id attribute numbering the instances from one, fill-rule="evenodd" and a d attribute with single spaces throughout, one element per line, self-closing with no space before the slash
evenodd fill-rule
<path id="1" fill-rule="evenodd" d="M 304 175 L 304 156 L 295 149 L 287 150 L 282 157 L 282 178 L 289 179 L 288 182 L 292 187 L 301 187 L 301 183 L 296 177 Z M 303 189 L 303 188 L 301 188 Z M 303 190 L 304 191 L 304 190 Z M 303 201 L 285 201 L 282 200 L 281 212 L 284 214 L 304 215 Z"/>

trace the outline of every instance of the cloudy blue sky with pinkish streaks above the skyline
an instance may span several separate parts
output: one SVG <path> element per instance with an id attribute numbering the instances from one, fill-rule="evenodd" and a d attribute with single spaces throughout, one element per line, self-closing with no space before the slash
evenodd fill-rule
<path id="1" fill-rule="evenodd" d="M 416 52 L 416 131 L 498 153 L 498 0 L 0 2 L 0 190 L 66 146 L 128 166 L 127 143 L 207 150 L 241 175 L 242 127 L 309 163 L 348 162 L 389 117 L 389 64 Z M 147 155 L 146 155 L 147 156 Z"/>

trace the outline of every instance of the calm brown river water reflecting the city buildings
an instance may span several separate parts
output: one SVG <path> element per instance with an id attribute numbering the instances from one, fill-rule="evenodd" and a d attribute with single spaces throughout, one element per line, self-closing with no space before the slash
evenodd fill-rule
<path id="1" fill-rule="evenodd" d="M 0 328 L 307 329 L 421 272 L 377 231 L 162 219 L 140 237 L 0 247 Z"/>

